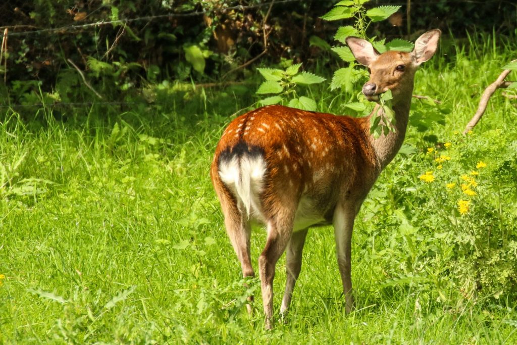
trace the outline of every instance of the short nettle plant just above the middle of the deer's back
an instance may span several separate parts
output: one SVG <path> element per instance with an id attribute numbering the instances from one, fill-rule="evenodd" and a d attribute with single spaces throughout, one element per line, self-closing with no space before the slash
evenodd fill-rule
<path id="1" fill-rule="evenodd" d="M 287 103 L 288 107 L 315 111 L 316 102 L 309 97 L 297 97 L 296 86 L 321 83 L 325 81 L 325 78 L 310 72 L 299 72 L 300 67 L 301 64 L 291 65 L 285 70 L 257 68 L 266 81 L 258 87 L 256 93 L 259 95 L 275 94 L 275 96 L 261 99 L 258 103 L 262 106 Z"/>

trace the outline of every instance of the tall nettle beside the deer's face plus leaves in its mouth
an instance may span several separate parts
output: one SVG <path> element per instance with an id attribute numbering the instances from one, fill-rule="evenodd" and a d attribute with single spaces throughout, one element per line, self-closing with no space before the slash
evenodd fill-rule
<path id="1" fill-rule="evenodd" d="M 402 39 L 394 39 L 386 43 L 385 39 L 376 40 L 375 37 L 369 39 L 366 36 L 366 31 L 371 23 L 386 20 L 400 9 L 400 6 L 379 6 L 367 10 L 364 7 L 364 4 L 367 2 L 368 0 L 340 1 L 322 17 L 328 21 L 355 20 L 353 25 L 339 27 L 336 35 L 334 35 L 334 39 L 343 44 L 345 44 L 345 40 L 349 36 L 368 39 L 379 53 L 387 50 L 412 51 L 413 43 Z M 342 88 L 347 93 L 352 93 L 356 83 L 368 78 L 368 72 L 363 68 L 358 68 L 359 65 L 355 62 L 355 57 L 350 48 L 339 46 L 332 48 L 332 51 L 337 53 L 344 62 L 348 63 L 348 67 L 340 68 L 334 72 L 330 88 L 331 90 Z M 361 93 L 358 94 L 357 98 L 357 102 L 348 103 L 345 107 L 360 114 L 368 115 L 371 112 L 371 103 Z M 395 130 L 391 99 L 391 92 L 382 94 L 379 100 L 381 107 L 378 108 L 376 116 L 371 118 L 370 131 L 375 137 L 379 137 L 381 134 L 386 135 L 390 131 Z"/>

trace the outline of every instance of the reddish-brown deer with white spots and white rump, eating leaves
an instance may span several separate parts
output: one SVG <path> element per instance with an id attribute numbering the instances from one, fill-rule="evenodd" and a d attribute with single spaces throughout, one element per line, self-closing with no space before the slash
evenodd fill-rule
<path id="1" fill-rule="evenodd" d="M 266 227 L 266 244 L 258 257 L 266 329 L 273 325 L 277 261 L 285 252 L 287 277 L 280 308 L 284 315 L 300 274 L 310 227 L 333 225 L 345 312 L 354 309 L 354 220 L 377 177 L 404 141 L 415 72 L 434 55 L 440 34 L 439 29 L 424 33 L 415 41 L 412 52 L 382 54 L 367 40 L 346 38 L 357 62 L 370 72 L 362 93 L 377 104 L 368 116 L 338 116 L 271 105 L 238 116 L 224 130 L 210 177 L 244 277 L 255 275 L 251 223 Z M 375 137 L 370 133 L 370 117 L 380 107 L 379 95 L 388 89 L 393 97 L 395 128 Z M 248 300 L 251 303 L 253 296 Z M 250 304 L 247 308 L 248 312 L 252 310 Z"/>

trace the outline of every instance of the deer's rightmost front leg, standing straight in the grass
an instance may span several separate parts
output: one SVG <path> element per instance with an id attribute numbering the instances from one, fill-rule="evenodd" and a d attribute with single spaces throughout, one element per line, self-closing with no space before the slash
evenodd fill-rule
<path id="1" fill-rule="evenodd" d="M 334 211 L 333 225 L 334 238 L 336 238 L 336 254 L 338 257 L 339 272 L 343 282 L 343 293 L 345 295 L 345 310 L 348 314 L 354 308 L 354 296 L 352 292 L 351 276 L 351 252 L 352 252 L 352 231 L 356 207 L 353 205 L 338 205 Z"/>

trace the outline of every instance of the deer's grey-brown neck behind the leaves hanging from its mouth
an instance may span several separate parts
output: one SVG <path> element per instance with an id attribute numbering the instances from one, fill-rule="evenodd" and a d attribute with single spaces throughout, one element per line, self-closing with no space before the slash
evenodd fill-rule
<path id="1" fill-rule="evenodd" d="M 399 152 L 399 149 L 404 142 L 409 119 L 411 96 L 409 95 L 407 99 L 408 101 L 399 101 L 396 104 L 393 104 L 393 111 L 395 112 L 396 119 L 394 132 L 389 132 L 387 136 L 381 135 L 379 138 L 374 138 L 369 134 L 370 142 L 375 150 L 379 163 L 381 164 L 381 170 L 391 162 L 395 155 L 397 155 L 397 152 Z M 375 109 L 368 116 L 368 119 L 370 119 L 371 116 L 374 116 L 373 114 L 376 113 L 378 107 L 378 105 L 375 106 Z M 368 124 L 370 124 L 370 121 L 368 121 Z M 370 128 L 368 128 L 368 133 L 369 131 Z"/>

